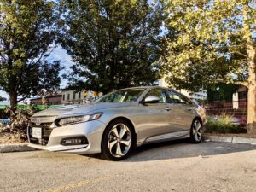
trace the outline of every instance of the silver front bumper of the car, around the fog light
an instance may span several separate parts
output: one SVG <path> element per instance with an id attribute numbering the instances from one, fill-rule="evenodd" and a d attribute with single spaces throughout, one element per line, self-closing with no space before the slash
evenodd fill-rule
<path id="1" fill-rule="evenodd" d="M 93 120 L 80 124 L 67 125 L 54 128 L 46 145 L 31 143 L 30 134 L 28 134 L 29 147 L 44 149 L 49 151 L 61 151 L 74 154 L 97 154 L 101 153 L 102 135 L 105 126 L 101 121 Z M 69 137 L 85 136 L 88 144 L 81 145 L 61 145 L 62 139 Z"/>

